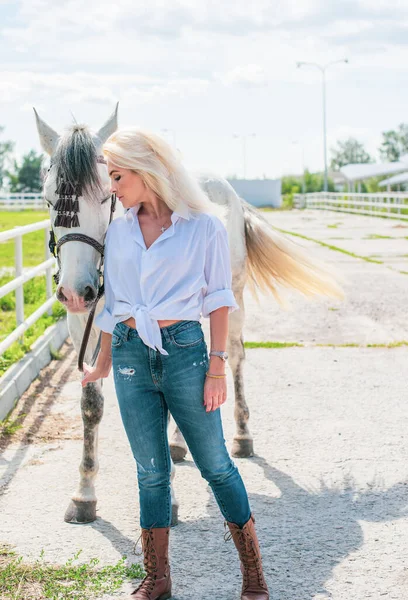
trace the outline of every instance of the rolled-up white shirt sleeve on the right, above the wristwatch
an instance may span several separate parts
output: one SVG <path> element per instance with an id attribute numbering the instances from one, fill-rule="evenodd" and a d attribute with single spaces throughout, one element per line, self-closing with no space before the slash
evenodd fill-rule
<path id="1" fill-rule="evenodd" d="M 207 289 L 203 301 L 203 317 L 209 317 L 210 313 L 222 306 L 227 306 L 228 312 L 239 310 L 231 289 L 231 259 L 227 230 L 223 225 L 217 228 L 207 245 L 204 276 Z"/>

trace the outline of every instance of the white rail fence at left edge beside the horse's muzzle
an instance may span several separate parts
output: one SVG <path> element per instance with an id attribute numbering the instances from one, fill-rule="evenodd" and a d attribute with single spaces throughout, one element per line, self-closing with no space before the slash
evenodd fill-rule
<path id="1" fill-rule="evenodd" d="M 50 221 L 46 219 L 39 221 L 31 225 L 24 225 L 23 227 L 15 227 L 8 231 L 0 232 L 0 243 L 6 242 L 7 240 L 14 239 L 15 245 L 15 278 L 9 281 L 2 287 L 0 287 L 0 298 L 3 298 L 6 294 L 16 292 L 16 318 L 17 328 L 6 337 L 5 340 L 0 342 L 0 356 L 5 350 L 15 341 L 22 337 L 23 333 L 31 327 L 38 319 L 45 313 L 51 314 L 51 307 L 55 302 L 55 295 L 52 293 L 52 270 L 55 265 L 55 258 L 51 256 L 48 248 L 48 231 L 50 228 Z M 23 271 L 23 235 L 31 233 L 33 231 L 45 230 L 45 243 L 44 243 L 44 262 L 33 267 L 32 269 Z M 24 294 L 23 284 L 29 281 L 33 277 L 44 273 L 46 276 L 46 296 L 47 300 L 37 308 L 29 317 L 24 317 Z"/>

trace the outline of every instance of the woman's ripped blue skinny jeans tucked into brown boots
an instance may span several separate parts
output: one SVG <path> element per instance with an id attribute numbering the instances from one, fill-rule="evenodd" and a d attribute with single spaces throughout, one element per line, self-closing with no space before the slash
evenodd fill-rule
<path id="1" fill-rule="evenodd" d="M 208 351 L 201 324 L 179 321 L 161 335 L 168 356 L 146 346 L 124 323 L 112 335 L 116 394 L 137 464 L 140 525 L 171 523 L 170 411 L 224 518 L 242 527 L 250 517 L 245 486 L 225 447 L 220 409 L 207 413 L 204 407 Z"/>

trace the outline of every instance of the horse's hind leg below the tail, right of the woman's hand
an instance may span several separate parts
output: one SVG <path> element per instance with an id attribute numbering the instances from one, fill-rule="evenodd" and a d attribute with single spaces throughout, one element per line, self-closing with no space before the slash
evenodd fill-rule
<path id="1" fill-rule="evenodd" d="M 228 362 L 234 379 L 234 417 L 236 425 L 236 433 L 233 439 L 231 453 L 232 456 L 237 458 L 246 458 L 248 456 L 253 456 L 254 444 L 248 427 L 249 409 L 244 394 L 243 367 L 245 361 L 245 349 L 244 340 L 242 337 L 242 329 L 244 325 L 245 311 L 243 289 L 238 292 L 234 290 L 234 295 L 239 304 L 240 310 L 234 311 L 230 314 L 228 326 Z"/>

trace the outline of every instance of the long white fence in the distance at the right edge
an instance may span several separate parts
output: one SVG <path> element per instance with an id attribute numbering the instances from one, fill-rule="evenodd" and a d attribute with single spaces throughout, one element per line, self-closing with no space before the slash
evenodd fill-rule
<path id="1" fill-rule="evenodd" d="M 295 194 L 294 206 L 408 220 L 408 193 L 406 192 Z"/>

